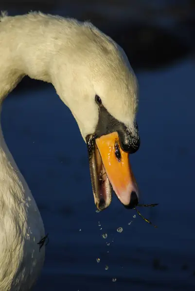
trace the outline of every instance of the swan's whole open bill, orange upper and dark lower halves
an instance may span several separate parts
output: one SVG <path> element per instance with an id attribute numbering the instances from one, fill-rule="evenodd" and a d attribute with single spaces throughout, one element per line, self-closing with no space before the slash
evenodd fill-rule
<path id="1" fill-rule="evenodd" d="M 117 132 L 88 140 L 89 169 L 96 207 L 106 209 L 112 199 L 112 189 L 126 208 L 139 202 L 136 179 L 129 162 L 129 153 L 120 146 Z"/>

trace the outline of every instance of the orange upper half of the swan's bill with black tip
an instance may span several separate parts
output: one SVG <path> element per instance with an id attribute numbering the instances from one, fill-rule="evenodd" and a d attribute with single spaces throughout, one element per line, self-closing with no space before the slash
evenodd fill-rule
<path id="1" fill-rule="evenodd" d="M 129 154 L 122 150 L 118 133 L 103 135 L 95 141 L 114 192 L 124 206 L 134 208 L 139 199 L 138 187 L 131 170 Z"/>

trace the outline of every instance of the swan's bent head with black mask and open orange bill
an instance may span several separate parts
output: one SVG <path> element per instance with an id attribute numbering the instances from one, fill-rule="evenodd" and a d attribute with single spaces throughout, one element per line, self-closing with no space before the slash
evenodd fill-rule
<path id="1" fill-rule="evenodd" d="M 140 146 L 138 85 L 123 49 L 86 23 L 57 58 L 53 84 L 87 143 L 97 208 L 109 206 L 112 189 L 125 207 L 134 208 L 139 192 L 129 154 Z"/>

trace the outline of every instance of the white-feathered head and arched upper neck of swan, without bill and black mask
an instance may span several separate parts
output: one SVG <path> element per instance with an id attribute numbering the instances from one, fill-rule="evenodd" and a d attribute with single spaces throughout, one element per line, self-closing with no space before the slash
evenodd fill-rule
<path id="1" fill-rule="evenodd" d="M 52 82 L 85 140 L 106 110 L 134 130 L 137 81 L 125 53 L 90 23 L 30 13 L 0 18 L 0 101 L 23 76 Z"/>

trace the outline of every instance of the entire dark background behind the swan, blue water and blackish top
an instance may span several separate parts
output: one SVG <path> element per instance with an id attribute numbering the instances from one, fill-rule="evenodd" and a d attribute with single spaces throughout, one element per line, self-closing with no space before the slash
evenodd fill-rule
<path id="1" fill-rule="evenodd" d="M 140 84 L 142 143 L 130 160 L 142 202 L 160 203 L 140 209 L 157 229 L 115 197 L 96 213 L 73 116 L 51 84 L 25 77 L 1 122 L 49 232 L 35 291 L 195 290 L 195 0 L 1 0 L 0 9 L 90 19 L 124 48 Z"/>

